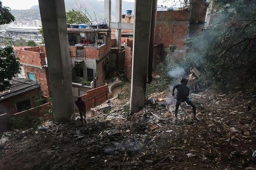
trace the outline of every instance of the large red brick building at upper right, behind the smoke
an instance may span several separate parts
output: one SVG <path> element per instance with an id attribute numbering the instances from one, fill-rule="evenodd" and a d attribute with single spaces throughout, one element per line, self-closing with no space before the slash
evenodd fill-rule
<path id="1" fill-rule="evenodd" d="M 169 46 L 176 46 L 174 56 L 185 52 L 187 37 L 192 37 L 203 31 L 207 6 L 200 0 L 195 0 L 190 8 L 175 11 L 157 11 L 155 44 L 163 45 L 163 56 L 169 52 Z"/>

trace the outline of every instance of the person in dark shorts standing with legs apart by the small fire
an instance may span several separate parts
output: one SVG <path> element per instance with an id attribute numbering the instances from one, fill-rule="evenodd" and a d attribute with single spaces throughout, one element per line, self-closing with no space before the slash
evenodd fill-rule
<path id="1" fill-rule="evenodd" d="M 188 80 L 183 78 L 181 79 L 181 84 L 175 85 L 172 90 L 172 96 L 174 96 L 175 88 L 177 88 L 177 98 L 176 98 L 176 107 L 175 107 L 175 119 L 173 121 L 178 121 L 178 109 L 181 104 L 181 102 L 187 102 L 190 106 L 193 108 L 194 113 L 194 120 L 201 121 L 199 118 L 197 118 L 196 115 L 196 105 L 192 102 L 192 100 L 188 97 L 189 96 L 189 88 L 187 87 Z"/>

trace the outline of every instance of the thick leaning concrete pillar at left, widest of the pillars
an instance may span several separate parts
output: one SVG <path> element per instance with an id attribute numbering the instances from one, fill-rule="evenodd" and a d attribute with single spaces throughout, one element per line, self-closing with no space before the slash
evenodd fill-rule
<path id="1" fill-rule="evenodd" d="M 75 118 L 64 0 L 38 0 L 56 121 Z"/>

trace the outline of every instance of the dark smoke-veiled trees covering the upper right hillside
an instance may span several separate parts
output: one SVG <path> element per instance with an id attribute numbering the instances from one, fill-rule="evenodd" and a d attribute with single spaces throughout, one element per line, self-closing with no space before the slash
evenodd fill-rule
<path id="1" fill-rule="evenodd" d="M 189 73 L 196 67 L 198 81 L 218 87 L 251 85 L 256 79 L 256 0 L 214 0 L 209 27 L 185 41 L 182 59 L 168 62 Z M 174 61 L 174 62 L 173 62 Z M 194 81 L 195 82 L 195 81 Z"/>

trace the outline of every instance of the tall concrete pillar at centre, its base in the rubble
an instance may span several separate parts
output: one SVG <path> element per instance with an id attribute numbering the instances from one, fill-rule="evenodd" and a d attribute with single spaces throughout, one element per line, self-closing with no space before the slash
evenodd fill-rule
<path id="1" fill-rule="evenodd" d="M 152 0 L 135 0 L 131 75 L 131 114 L 145 103 Z"/>

